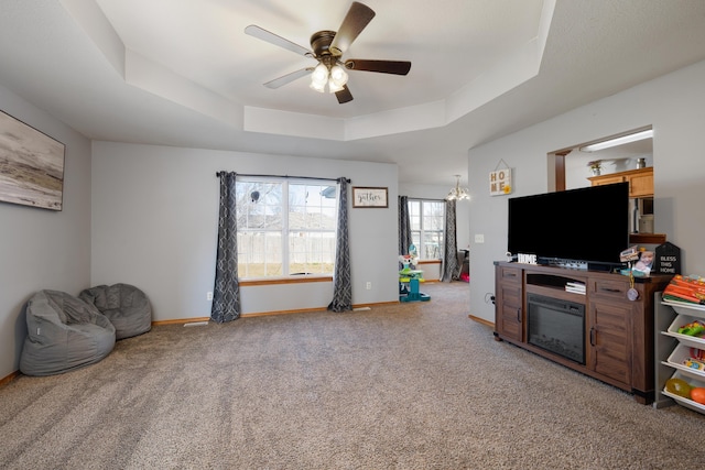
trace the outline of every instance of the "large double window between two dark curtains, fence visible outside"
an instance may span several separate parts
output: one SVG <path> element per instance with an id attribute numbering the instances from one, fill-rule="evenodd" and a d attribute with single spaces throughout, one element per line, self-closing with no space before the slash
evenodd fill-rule
<path id="1" fill-rule="evenodd" d="M 240 278 L 333 274 L 335 184 L 242 178 L 236 193 Z"/>

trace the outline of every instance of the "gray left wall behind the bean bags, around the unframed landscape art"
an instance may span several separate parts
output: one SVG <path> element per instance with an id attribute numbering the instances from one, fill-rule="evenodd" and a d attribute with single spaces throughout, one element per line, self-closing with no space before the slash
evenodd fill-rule
<path id="1" fill-rule="evenodd" d="M 63 210 L 0 203 L 0 379 L 19 369 L 23 307 L 36 291 L 90 281 L 90 142 L 0 86 L 0 110 L 66 145 Z"/>

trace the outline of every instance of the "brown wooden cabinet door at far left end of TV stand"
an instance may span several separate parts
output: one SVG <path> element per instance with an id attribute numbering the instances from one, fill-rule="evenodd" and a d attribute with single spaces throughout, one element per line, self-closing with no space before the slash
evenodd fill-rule
<path id="1" fill-rule="evenodd" d="M 521 270 L 499 266 L 495 294 L 495 327 L 508 339 L 523 341 L 523 295 Z"/>

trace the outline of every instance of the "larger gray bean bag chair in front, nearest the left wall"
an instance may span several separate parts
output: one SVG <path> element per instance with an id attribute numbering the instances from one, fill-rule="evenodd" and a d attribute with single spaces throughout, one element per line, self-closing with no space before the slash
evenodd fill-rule
<path id="1" fill-rule="evenodd" d="M 59 291 L 40 291 L 26 305 L 20 356 L 25 375 L 53 375 L 98 362 L 115 347 L 115 327 L 96 307 Z"/>

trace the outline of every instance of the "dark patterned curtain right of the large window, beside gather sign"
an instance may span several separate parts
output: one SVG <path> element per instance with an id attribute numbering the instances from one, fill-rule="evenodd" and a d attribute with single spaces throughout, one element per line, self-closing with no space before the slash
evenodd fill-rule
<path id="1" fill-rule="evenodd" d="M 352 286 L 350 285 L 350 245 L 348 243 L 348 181 L 338 178 L 338 240 L 335 249 L 335 274 L 333 275 L 333 300 L 328 310 L 352 309 Z"/>

